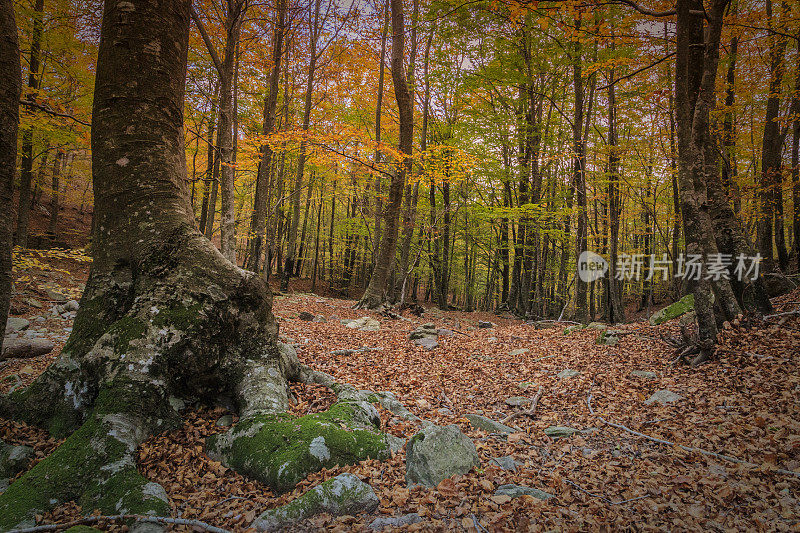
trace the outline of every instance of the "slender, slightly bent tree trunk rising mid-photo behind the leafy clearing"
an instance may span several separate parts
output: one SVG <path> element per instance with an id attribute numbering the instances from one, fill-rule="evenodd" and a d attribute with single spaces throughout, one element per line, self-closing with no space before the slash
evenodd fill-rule
<path id="1" fill-rule="evenodd" d="M 383 212 L 384 232 L 378 250 L 378 260 L 372 271 L 372 277 L 364 295 L 358 305 L 360 307 L 376 308 L 386 300 L 388 274 L 391 262 L 394 260 L 397 248 L 397 233 L 399 226 L 400 203 L 403 199 L 403 188 L 406 182 L 406 172 L 411 164 L 411 146 L 414 141 L 414 116 L 411 93 L 403 66 L 404 50 L 404 23 L 403 2 L 391 0 L 392 7 L 392 81 L 394 93 L 397 98 L 397 108 L 400 116 L 400 142 L 399 152 L 407 159 L 398 161 L 389 184 L 389 201 Z"/>

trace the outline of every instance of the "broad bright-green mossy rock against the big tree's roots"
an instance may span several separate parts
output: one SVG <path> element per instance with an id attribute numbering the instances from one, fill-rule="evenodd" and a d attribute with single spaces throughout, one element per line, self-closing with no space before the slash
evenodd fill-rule
<path id="1" fill-rule="evenodd" d="M 323 468 L 386 458 L 389 444 L 375 416 L 372 405 L 348 401 L 299 418 L 256 415 L 209 437 L 206 446 L 223 464 L 286 492 Z"/>

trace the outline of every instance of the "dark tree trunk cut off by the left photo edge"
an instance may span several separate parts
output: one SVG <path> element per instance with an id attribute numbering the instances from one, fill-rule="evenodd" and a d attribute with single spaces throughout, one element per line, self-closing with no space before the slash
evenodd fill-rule
<path id="1" fill-rule="evenodd" d="M 0 325 L 11 303 L 11 197 L 17 166 L 19 97 L 22 91 L 13 0 L 0 3 Z M 0 352 L 3 338 L 0 336 Z"/>

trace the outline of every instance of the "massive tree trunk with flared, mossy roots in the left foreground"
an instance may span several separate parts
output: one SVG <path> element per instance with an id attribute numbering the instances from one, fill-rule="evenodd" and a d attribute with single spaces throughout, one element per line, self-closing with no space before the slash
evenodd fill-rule
<path id="1" fill-rule="evenodd" d="M 227 396 L 243 417 L 288 404 L 293 365 L 276 346 L 270 291 L 194 225 L 183 139 L 189 9 L 189 0 L 105 4 L 91 274 L 59 358 L 0 397 L 2 416 L 70 436 L 0 495 L 0 530 L 71 500 L 86 511 L 168 514 L 164 490 L 137 473 L 135 450 L 177 420 L 170 395 Z M 6 11 L 4 47 L 13 44 Z M 2 79 L 18 79 L 12 54 L 0 57 Z M 2 117 L 5 141 L 14 117 Z"/>

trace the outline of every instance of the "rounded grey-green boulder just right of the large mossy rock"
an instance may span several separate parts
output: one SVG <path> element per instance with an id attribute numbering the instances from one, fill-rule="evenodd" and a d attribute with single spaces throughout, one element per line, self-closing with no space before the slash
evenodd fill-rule
<path id="1" fill-rule="evenodd" d="M 475 444 L 458 426 L 430 425 L 406 444 L 406 482 L 435 487 L 480 465 Z"/>

